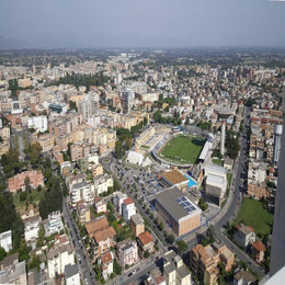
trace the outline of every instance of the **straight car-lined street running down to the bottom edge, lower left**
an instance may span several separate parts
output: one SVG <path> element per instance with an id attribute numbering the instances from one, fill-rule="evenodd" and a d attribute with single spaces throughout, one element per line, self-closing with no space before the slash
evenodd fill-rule
<path id="1" fill-rule="evenodd" d="M 66 198 L 64 198 L 62 203 L 62 217 L 67 225 L 69 236 L 72 239 L 71 246 L 76 252 L 81 280 L 84 284 L 95 284 L 89 255 L 86 252 L 86 247 L 82 244 L 77 224 L 72 218 L 72 213 L 70 212 L 69 206 L 67 206 Z"/>

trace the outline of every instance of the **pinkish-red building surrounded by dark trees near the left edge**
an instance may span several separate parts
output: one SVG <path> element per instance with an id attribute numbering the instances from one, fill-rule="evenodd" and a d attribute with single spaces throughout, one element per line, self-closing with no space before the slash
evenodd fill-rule
<path id="1" fill-rule="evenodd" d="M 44 176 L 42 170 L 31 170 L 19 173 L 9 179 L 9 191 L 15 193 L 18 190 L 25 191 L 25 179 L 29 178 L 29 182 L 32 189 L 37 186 L 44 186 Z"/>

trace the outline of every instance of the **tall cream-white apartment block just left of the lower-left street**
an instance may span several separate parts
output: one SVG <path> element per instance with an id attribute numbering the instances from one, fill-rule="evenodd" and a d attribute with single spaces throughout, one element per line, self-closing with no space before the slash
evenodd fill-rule
<path id="1" fill-rule="evenodd" d="M 54 247 L 47 252 L 48 277 L 65 273 L 66 265 L 75 264 L 75 252 L 66 235 L 57 238 Z"/>

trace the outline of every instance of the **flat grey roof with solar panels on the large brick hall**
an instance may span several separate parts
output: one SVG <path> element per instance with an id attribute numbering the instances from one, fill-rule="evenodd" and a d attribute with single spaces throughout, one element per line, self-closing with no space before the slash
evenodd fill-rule
<path id="1" fill-rule="evenodd" d="M 167 189 L 156 195 L 156 201 L 169 213 L 176 221 L 191 218 L 201 214 L 198 208 L 176 187 Z"/>

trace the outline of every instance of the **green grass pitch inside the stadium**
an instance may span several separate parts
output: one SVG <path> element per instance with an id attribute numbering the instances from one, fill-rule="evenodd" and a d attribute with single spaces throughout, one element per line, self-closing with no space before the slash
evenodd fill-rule
<path id="1" fill-rule="evenodd" d="M 160 151 L 159 157 L 178 163 L 195 163 L 205 145 L 201 137 L 173 137 Z"/>

